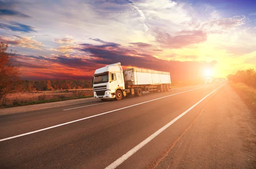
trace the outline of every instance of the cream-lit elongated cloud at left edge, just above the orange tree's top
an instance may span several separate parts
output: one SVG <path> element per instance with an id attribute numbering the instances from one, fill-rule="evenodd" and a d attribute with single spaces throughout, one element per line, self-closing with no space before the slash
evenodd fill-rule
<path id="1" fill-rule="evenodd" d="M 14 36 L 15 36 L 14 39 L 0 36 L 0 41 L 2 41 L 4 43 L 8 43 L 10 45 L 20 46 L 23 48 L 32 48 L 32 49 L 36 49 L 39 51 L 42 51 L 44 48 L 44 45 L 41 42 L 32 40 L 31 37 L 21 37 L 18 35 L 14 35 Z"/>

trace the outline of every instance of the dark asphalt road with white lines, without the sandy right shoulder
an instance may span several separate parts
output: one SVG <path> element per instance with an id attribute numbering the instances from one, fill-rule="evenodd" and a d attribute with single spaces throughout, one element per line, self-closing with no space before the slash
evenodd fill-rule
<path id="1" fill-rule="evenodd" d="M 182 157 L 176 152 L 171 160 L 162 160 L 163 154 L 204 107 L 218 107 L 223 97 L 212 100 L 225 96 L 226 86 L 181 87 L 121 101 L 90 100 L 0 115 L 0 168 L 162 168 L 160 162 L 170 167 Z M 212 113 L 212 108 L 204 111 Z"/>

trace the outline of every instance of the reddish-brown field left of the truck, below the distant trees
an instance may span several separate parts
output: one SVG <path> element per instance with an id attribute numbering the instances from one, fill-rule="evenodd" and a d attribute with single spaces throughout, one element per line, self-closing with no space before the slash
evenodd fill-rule
<path id="1" fill-rule="evenodd" d="M 40 104 L 53 101 L 62 101 L 70 99 L 81 99 L 92 97 L 92 88 L 85 88 L 79 90 L 50 90 L 38 92 L 18 92 L 7 96 L 7 101 L 3 107 L 14 107 L 29 104 Z"/>

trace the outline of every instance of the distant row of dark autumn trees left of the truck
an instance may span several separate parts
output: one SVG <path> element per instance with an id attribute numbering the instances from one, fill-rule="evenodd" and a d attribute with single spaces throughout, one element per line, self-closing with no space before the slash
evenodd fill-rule
<path id="1" fill-rule="evenodd" d="M 93 87 L 89 80 L 19 80 L 12 85 L 15 92 L 33 92 L 44 90 L 67 90 Z"/>

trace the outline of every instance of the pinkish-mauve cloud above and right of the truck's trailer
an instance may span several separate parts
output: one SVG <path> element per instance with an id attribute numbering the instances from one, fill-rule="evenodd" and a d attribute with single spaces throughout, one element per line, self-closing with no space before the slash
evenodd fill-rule
<path id="1" fill-rule="evenodd" d="M 157 30 L 154 36 L 157 42 L 168 48 L 183 48 L 207 40 L 207 34 L 200 30 L 180 31 L 175 35 Z"/>

